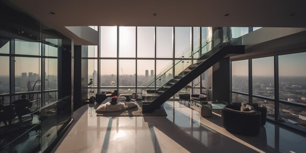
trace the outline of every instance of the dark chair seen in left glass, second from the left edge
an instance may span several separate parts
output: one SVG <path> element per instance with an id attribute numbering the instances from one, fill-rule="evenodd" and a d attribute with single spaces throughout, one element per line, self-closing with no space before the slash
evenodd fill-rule
<path id="1" fill-rule="evenodd" d="M 32 103 L 28 99 L 19 99 L 12 102 L 12 104 L 16 107 L 16 113 L 20 122 L 22 122 L 22 116 L 31 113 Z"/>

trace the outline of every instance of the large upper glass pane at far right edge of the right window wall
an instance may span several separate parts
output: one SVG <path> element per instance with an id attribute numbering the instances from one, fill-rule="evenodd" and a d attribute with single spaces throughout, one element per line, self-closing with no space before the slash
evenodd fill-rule
<path id="1" fill-rule="evenodd" d="M 280 99 L 306 104 L 306 53 L 279 56 Z"/>

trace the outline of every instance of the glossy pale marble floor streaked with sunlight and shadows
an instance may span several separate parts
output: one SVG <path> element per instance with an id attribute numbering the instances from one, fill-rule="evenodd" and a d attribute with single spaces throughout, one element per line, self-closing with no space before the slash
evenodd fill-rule
<path id="1" fill-rule="evenodd" d="M 218 113 L 203 118 L 177 101 L 164 108 L 167 117 L 97 117 L 93 106 L 83 106 L 52 152 L 306 153 L 305 136 L 269 122 L 259 136 L 240 136 L 222 128 Z"/>

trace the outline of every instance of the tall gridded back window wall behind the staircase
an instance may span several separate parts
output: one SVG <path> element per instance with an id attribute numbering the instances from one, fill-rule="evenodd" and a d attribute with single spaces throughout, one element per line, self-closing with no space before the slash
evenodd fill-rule
<path id="1" fill-rule="evenodd" d="M 100 45 L 88 46 L 88 55 L 83 57 L 88 60 L 87 79 L 93 79 L 95 92 L 141 93 L 146 87 L 161 87 L 197 63 L 212 28 L 205 27 L 203 38 L 201 29 L 204 27 L 100 26 Z M 198 77 L 193 83 L 195 93 L 200 92 L 200 78 L 211 79 Z"/>

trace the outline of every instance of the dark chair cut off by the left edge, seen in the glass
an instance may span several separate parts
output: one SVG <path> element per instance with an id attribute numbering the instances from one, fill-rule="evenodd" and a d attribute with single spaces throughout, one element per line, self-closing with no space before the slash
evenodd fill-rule
<path id="1" fill-rule="evenodd" d="M 4 122 L 4 125 L 11 125 L 12 120 L 16 117 L 15 105 L 0 106 L 0 122 Z"/>

